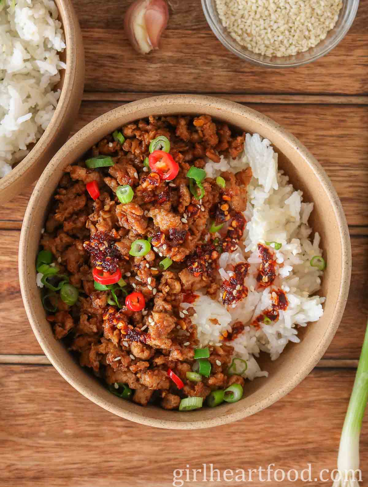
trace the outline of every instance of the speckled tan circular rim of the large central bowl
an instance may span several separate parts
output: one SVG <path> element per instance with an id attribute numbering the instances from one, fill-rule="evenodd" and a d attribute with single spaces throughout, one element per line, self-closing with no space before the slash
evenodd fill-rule
<path id="1" fill-rule="evenodd" d="M 79 145 L 80 140 L 84 140 L 88 136 L 96 134 L 97 131 L 109 125 L 111 118 L 116 119 L 116 127 L 119 126 L 119 116 L 123 115 L 132 115 L 138 112 L 140 109 L 144 108 L 145 110 L 149 109 L 152 112 L 160 113 L 160 107 L 163 104 L 165 106 L 169 105 L 172 112 L 175 112 L 176 105 L 183 105 L 183 103 L 193 106 L 193 112 L 196 111 L 198 108 L 198 104 L 203 104 L 204 112 L 211 106 L 213 109 L 216 110 L 225 110 L 235 112 L 238 115 L 246 116 L 248 118 L 256 119 L 259 123 L 269 126 L 275 133 L 284 139 L 290 146 L 293 147 L 294 150 L 300 153 L 300 155 L 305 160 L 306 164 L 310 166 L 311 169 L 316 173 L 318 179 L 321 182 L 324 190 L 326 191 L 329 201 L 331 203 L 336 222 L 338 225 L 338 229 L 340 232 L 340 240 L 341 240 L 341 282 L 339 284 L 339 292 L 338 298 L 336 300 L 336 307 L 333 311 L 331 322 L 329 327 L 327 328 L 325 334 L 319 341 L 319 343 L 313 349 L 309 359 L 305 363 L 303 369 L 298 373 L 295 374 L 293 379 L 290 380 L 287 384 L 283 384 L 278 390 L 274 391 L 274 393 L 267 395 L 264 399 L 259 400 L 254 405 L 244 408 L 243 410 L 239 410 L 236 412 L 230 412 L 226 416 L 213 417 L 209 419 L 194 419 L 194 416 L 189 415 L 187 421 L 180 421 L 180 420 L 171 420 L 171 419 L 158 419 L 158 418 L 150 418 L 144 415 L 144 410 L 142 413 L 135 413 L 130 412 L 127 410 L 122 410 L 121 408 L 115 406 L 113 402 L 106 403 L 103 398 L 99 397 L 97 393 L 93 393 L 88 386 L 85 386 L 82 383 L 81 379 L 74 379 L 71 377 L 66 367 L 63 366 L 63 363 L 58 359 L 58 354 L 51 349 L 51 347 L 47 346 L 44 342 L 44 337 L 42 335 L 42 325 L 37 325 L 37 314 L 32 306 L 32 300 L 28 298 L 29 289 L 31 286 L 35 286 L 34 282 L 29 281 L 29 272 L 28 272 L 28 261 L 26 259 L 27 255 L 27 242 L 32 234 L 32 227 L 33 227 L 33 209 L 38 205 L 40 194 L 42 187 L 47 185 L 49 174 L 53 173 L 54 169 L 56 169 L 59 164 L 65 164 L 65 158 L 72 154 L 74 149 Z M 138 115 L 139 118 L 139 115 Z M 134 118 L 132 118 L 134 120 Z M 96 139 L 97 141 L 97 139 Z M 19 241 L 19 254 L 18 254 L 18 270 L 19 270 L 19 281 L 20 281 L 20 290 L 22 294 L 22 299 L 24 303 L 24 307 L 30 321 L 31 327 L 33 332 L 37 338 L 38 343 L 40 344 L 42 350 L 44 351 L 45 355 L 48 357 L 50 362 L 54 365 L 55 369 L 62 375 L 67 382 L 69 382 L 78 392 L 82 393 L 85 397 L 92 400 L 95 404 L 103 407 L 104 409 L 117 414 L 125 419 L 129 419 L 131 421 L 144 424 L 147 426 L 154 426 L 158 428 L 167 428 L 167 429 L 201 429 L 201 428 L 209 428 L 213 426 L 219 426 L 222 424 L 230 423 L 233 421 L 237 421 L 242 419 L 246 416 L 249 416 L 255 412 L 258 412 L 266 407 L 275 403 L 278 399 L 289 393 L 294 387 L 301 382 L 313 369 L 313 367 L 317 364 L 319 359 L 322 357 L 324 352 L 326 351 L 327 347 L 329 346 L 342 318 L 346 301 L 348 299 L 348 292 L 350 286 L 350 274 L 351 274 L 351 247 L 350 247 L 350 237 L 349 237 L 349 230 L 348 224 L 346 221 L 346 217 L 341 205 L 341 202 L 337 196 L 337 192 L 332 186 L 332 183 L 326 174 L 325 170 L 322 166 L 317 162 L 314 156 L 301 144 L 298 139 L 294 137 L 289 131 L 281 128 L 279 124 L 275 121 L 270 119 L 269 117 L 251 109 L 248 107 L 244 107 L 238 103 L 228 101 L 225 99 L 214 98 L 206 95 L 163 95 L 163 96 L 154 96 L 150 98 L 145 98 L 141 100 L 137 100 L 126 105 L 120 106 L 115 108 L 109 112 L 100 115 L 98 118 L 92 120 L 88 125 L 80 129 L 73 137 L 71 137 L 62 147 L 60 150 L 57 151 L 47 169 L 44 170 L 41 177 L 39 178 L 37 185 L 31 195 L 30 201 L 26 208 L 26 212 L 24 215 L 24 220 L 21 228 L 20 233 L 20 241 Z M 32 263 L 33 264 L 33 263 Z M 75 364 L 76 367 L 80 367 L 78 364 Z"/>

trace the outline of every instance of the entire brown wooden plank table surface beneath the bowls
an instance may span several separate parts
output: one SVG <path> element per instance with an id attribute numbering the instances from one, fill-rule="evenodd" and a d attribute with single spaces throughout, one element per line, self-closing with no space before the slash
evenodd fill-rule
<path id="1" fill-rule="evenodd" d="M 250 418 L 187 432 L 121 419 L 76 392 L 32 333 L 18 282 L 19 231 L 34 185 L 24 188 L 0 208 L 1 486 L 166 487 L 173 485 L 173 470 L 203 463 L 221 472 L 272 463 L 301 471 L 311 464 L 313 479 L 336 467 L 368 316 L 368 1 L 361 1 L 349 34 L 329 55 L 286 70 L 254 67 L 227 52 L 199 0 L 170 3 L 161 50 L 144 57 L 133 52 L 122 30 L 128 0 L 74 1 L 86 51 L 85 94 L 74 132 L 114 107 L 158 93 L 214 94 L 276 120 L 317 157 L 344 206 L 353 255 L 344 318 L 313 372 Z M 361 465 L 368 486 L 367 419 Z M 190 479 L 184 486 L 209 485 L 201 476 Z M 308 485 L 331 485 L 313 479 Z M 216 483 L 225 484 L 243 485 Z M 263 485 L 257 476 L 252 484 Z"/>

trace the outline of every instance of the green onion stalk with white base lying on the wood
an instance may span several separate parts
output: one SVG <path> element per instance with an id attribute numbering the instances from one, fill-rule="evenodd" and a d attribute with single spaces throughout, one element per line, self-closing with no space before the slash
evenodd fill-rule
<path id="1" fill-rule="evenodd" d="M 340 438 L 337 469 L 333 487 L 358 487 L 359 437 L 368 400 L 368 323 L 358 370 L 350 396 L 348 411 Z M 358 470 L 358 471 L 357 471 Z"/>

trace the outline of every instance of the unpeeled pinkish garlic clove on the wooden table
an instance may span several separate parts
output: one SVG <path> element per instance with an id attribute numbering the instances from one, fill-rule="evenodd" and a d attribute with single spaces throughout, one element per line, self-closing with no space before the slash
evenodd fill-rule
<path id="1" fill-rule="evenodd" d="M 168 7 L 165 0 L 136 0 L 124 19 L 124 30 L 133 48 L 141 54 L 158 49 L 166 28 Z"/>

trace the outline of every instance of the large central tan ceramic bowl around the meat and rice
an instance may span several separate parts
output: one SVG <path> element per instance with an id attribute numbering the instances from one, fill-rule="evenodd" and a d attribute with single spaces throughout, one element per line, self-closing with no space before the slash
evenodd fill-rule
<path id="1" fill-rule="evenodd" d="M 150 114 L 207 113 L 241 130 L 258 132 L 270 139 L 279 153 L 280 167 L 290 175 L 295 188 L 313 201 L 312 225 L 322 237 L 328 266 L 323 278 L 326 296 L 323 317 L 299 331 L 301 342 L 290 343 L 280 358 L 261 358 L 270 375 L 248 382 L 245 397 L 235 404 L 203 408 L 193 412 L 143 408 L 112 395 L 74 361 L 62 343 L 56 341 L 45 319 L 36 286 L 35 259 L 48 204 L 63 169 L 97 141 L 122 124 Z M 41 175 L 27 207 L 19 245 L 19 279 L 29 321 L 45 354 L 56 370 L 80 393 L 123 418 L 149 426 L 197 429 L 236 421 L 270 406 L 289 393 L 316 365 L 326 351 L 340 323 L 348 297 L 351 253 L 348 226 L 331 181 L 312 154 L 293 135 L 269 118 L 237 103 L 200 95 L 158 96 L 136 101 L 98 117 L 77 132 L 54 156 Z"/>

